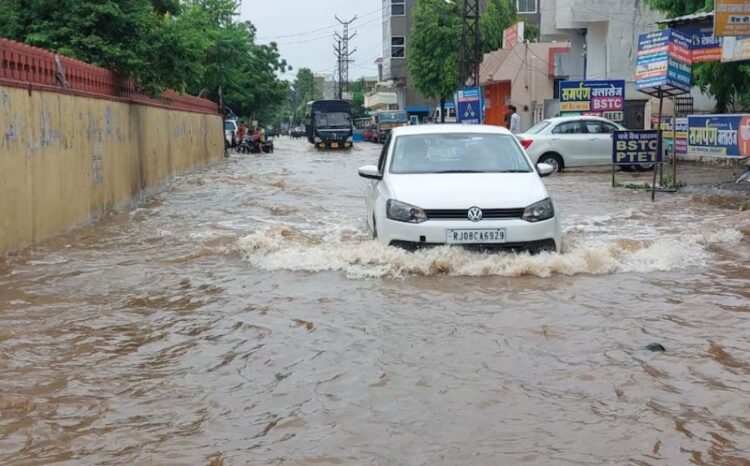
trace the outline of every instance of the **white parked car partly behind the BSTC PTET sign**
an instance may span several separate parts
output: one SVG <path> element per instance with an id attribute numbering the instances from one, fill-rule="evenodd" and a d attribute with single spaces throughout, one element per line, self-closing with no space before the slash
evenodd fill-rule
<path id="1" fill-rule="evenodd" d="M 551 165 L 559 172 L 565 168 L 611 165 L 612 133 L 624 129 L 599 117 L 557 117 L 540 121 L 516 137 L 533 162 Z M 653 164 L 635 168 L 650 170 Z"/>

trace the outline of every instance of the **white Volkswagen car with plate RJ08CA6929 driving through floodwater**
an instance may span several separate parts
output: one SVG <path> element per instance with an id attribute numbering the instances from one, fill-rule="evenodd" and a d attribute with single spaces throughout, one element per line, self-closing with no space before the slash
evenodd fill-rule
<path id="1" fill-rule="evenodd" d="M 359 169 L 367 223 L 380 242 L 407 249 L 441 244 L 560 250 L 560 221 L 535 166 L 505 128 L 396 128 L 378 165 Z"/>

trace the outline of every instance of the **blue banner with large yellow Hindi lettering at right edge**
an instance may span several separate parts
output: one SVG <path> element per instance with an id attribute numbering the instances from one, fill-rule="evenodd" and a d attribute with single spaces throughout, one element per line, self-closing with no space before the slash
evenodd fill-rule
<path id="1" fill-rule="evenodd" d="M 688 153 L 709 157 L 750 155 L 750 114 L 690 115 Z"/>

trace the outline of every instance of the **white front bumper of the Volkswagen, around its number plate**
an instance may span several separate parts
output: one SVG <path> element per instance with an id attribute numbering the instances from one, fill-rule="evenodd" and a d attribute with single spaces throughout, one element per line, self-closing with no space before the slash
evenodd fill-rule
<path id="1" fill-rule="evenodd" d="M 446 244 L 447 230 L 505 230 L 505 242 L 488 244 L 462 244 L 477 249 L 560 251 L 560 223 L 555 217 L 541 222 L 521 219 L 483 220 L 428 220 L 423 223 L 397 222 L 378 219 L 378 240 L 384 244 L 415 249 Z"/>

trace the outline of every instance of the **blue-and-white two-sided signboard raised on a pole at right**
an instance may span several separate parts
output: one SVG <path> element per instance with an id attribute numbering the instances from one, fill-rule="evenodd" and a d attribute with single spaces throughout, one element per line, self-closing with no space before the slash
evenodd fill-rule
<path id="1" fill-rule="evenodd" d="M 692 87 L 690 38 L 680 31 L 641 34 L 638 37 L 638 60 L 635 87 L 670 88 L 690 92 Z M 674 92 L 670 95 L 676 95 Z"/>

